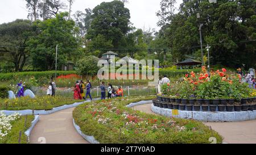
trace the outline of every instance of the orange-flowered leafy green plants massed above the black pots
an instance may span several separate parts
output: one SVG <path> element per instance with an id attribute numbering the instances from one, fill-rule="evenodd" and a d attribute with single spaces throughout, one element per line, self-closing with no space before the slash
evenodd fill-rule
<path id="1" fill-rule="evenodd" d="M 205 66 L 201 73 L 185 74 L 183 81 L 162 86 L 162 92 L 176 98 L 236 99 L 248 97 L 251 89 L 241 83 L 241 76 L 226 73 L 225 68 L 207 73 Z"/>

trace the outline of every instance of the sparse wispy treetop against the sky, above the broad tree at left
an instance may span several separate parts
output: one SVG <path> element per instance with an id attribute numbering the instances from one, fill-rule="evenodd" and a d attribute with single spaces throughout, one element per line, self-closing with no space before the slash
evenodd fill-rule
<path id="1" fill-rule="evenodd" d="M 43 20 L 56 17 L 60 10 L 67 9 L 67 5 L 60 0 L 44 0 L 39 3 L 40 17 Z"/>

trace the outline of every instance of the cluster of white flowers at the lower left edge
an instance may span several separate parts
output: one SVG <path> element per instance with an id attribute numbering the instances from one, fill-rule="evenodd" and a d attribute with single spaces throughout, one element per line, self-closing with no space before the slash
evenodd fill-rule
<path id="1" fill-rule="evenodd" d="M 7 136 L 13 127 L 11 122 L 20 118 L 20 114 L 15 113 L 13 115 L 6 116 L 2 112 L 0 113 L 0 140 Z"/>

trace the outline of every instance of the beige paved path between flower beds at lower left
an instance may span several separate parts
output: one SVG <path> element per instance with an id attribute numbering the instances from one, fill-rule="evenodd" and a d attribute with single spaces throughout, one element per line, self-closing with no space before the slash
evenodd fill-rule
<path id="1" fill-rule="evenodd" d="M 72 111 L 75 108 L 40 115 L 39 122 L 31 132 L 31 144 L 88 144 L 73 126 Z"/>

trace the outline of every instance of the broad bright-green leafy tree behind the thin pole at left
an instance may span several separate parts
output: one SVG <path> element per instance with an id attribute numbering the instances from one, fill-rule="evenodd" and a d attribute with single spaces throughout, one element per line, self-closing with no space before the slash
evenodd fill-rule
<path id="1" fill-rule="evenodd" d="M 61 12 L 56 18 L 35 23 L 37 35 L 29 41 L 32 65 L 38 70 L 52 70 L 55 66 L 55 47 L 58 48 L 58 66 L 77 56 L 78 33 L 73 20 L 68 20 L 68 12 Z"/>

